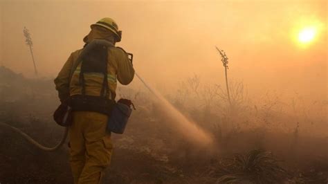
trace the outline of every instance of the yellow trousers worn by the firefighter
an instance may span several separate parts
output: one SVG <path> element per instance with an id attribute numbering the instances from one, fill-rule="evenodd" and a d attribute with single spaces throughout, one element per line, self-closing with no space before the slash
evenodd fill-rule
<path id="1" fill-rule="evenodd" d="M 111 135 L 106 132 L 108 117 L 91 111 L 73 112 L 69 127 L 70 164 L 75 184 L 100 183 L 111 162 Z"/>

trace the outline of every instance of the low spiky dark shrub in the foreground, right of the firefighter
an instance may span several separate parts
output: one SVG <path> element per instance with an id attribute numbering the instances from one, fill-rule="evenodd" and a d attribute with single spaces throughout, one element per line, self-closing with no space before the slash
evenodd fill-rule
<path id="1" fill-rule="evenodd" d="M 215 183 L 282 183 L 287 176 L 271 152 L 259 149 L 221 159 L 210 167 L 209 174 Z"/>

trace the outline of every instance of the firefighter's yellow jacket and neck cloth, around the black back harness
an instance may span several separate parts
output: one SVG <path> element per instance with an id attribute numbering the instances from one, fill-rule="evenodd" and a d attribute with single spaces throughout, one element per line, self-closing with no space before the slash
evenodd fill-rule
<path id="1" fill-rule="evenodd" d="M 93 39 L 105 39 L 109 42 L 113 42 L 111 33 L 102 28 L 95 26 L 91 29 L 89 35 L 84 37 L 84 42 L 89 43 Z M 78 67 L 73 70 L 73 66 L 77 62 L 77 59 L 82 52 L 82 49 L 76 50 L 71 53 L 71 56 L 62 67 L 62 70 L 55 78 L 55 86 L 58 91 L 58 95 L 61 101 L 66 100 L 69 96 L 82 94 L 82 87 L 80 86 L 80 68 L 81 63 Z M 129 57 L 125 50 L 117 47 L 108 48 L 108 62 L 107 62 L 107 77 L 109 90 L 111 95 L 109 98 L 115 99 L 117 80 L 123 85 L 129 84 L 134 78 L 134 68 L 129 61 Z M 71 81 L 69 76 L 73 72 Z M 101 73 L 84 73 L 85 79 L 85 94 L 99 96 L 102 89 L 103 75 Z"/>

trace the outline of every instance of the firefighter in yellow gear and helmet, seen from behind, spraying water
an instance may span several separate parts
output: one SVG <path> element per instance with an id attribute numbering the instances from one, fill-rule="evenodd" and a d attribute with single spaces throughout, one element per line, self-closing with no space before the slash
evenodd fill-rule
<path id="1" fill-rule="evenodd" d="M 111 18 L 91 25 L 83 41 L 103 39 L 113 46 L 98 46 L 72 71 L 83 48 L 71 53 L 55 78 L 61 102 L 69 101 L 73 124 L 69 127 L 70 165 L 74 183 L 100 183 L 111 162 L 111 134 L 106 131 L 109 109 L 116 97 L 117 81 L 129 84 L 134 68 L 125 50 L 115 47 L 122 32 Z"/>

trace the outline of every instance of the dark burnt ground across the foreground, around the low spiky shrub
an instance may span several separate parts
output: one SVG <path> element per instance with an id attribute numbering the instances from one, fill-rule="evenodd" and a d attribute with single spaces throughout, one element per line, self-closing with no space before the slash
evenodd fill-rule
<path id="1" fill-rule="evenodd" d="M 41 126 L 39 130 L 42 129 Z M 31 129 L 26 128 L 25 131 Z M 31 135 L 49 145 L 49 143 L 55 144 L 56 140 L 60 139 L 61 133 L 62 129 L 56 129 L 53 134 Z M 250 136 L 250 133 L 238 136 L 237 140 L 228 142 L 228 145 L 234 146 L 224 146 L 225 153 L 206 154 L 192 145 L 183 144 L 179 149 L 166 151 L 167 155 L 161 156 L 156 154 L 158 152 L 156 148 L 147 149 L 152 147 L 151 144 L 143 147 L 143 144 L 147 144 L 145 140 L 141 139 L 141 143 L 138 143 L 115 135 L 113 142 L 116 148 L 113 151 L 111 166 L 104 177 L 104 183 L 214 183 L 215 180 L 207 175 L 208 167 L 213 160 L 230 156 L 232 153 L 244 153 L 253 147 L 244 144 L 253 142 L 256 136 Z M 264 142 L 288 139 L 279 136 L 280 138 L 277 138 L 277 135 L 266 136 Z M 288 144 L 273 145 L 266 149 L 273 150 L 277 159 L 282 160 L 283 167 L 289 171 L 286 182 L 327 183 L 327 147 L 324 147 L 327 145 L 327 140 L 302 138 L 300 142 L 302 144 L 296 152 L 291 151 Z M 72 183 L 67 144 L 54 152 L 41 151 L 15 132 L 1 127 L 0 145 L 1 183 Z M 307 150 L 302 151 L 302 149 Z"/>

